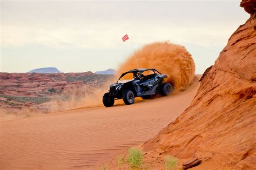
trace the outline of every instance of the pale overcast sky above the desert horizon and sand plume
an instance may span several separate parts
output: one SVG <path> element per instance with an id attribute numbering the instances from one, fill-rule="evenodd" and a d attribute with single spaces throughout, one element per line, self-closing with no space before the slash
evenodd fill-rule
<path id="1" fill-rule="evenodd" d="M 235 0 L 0 1 L 0 72 L 118 69 L 133 53 L 127 33 L 134 50 L 166 40 L 185 46 L 203 73 L 249 18 Z"/>

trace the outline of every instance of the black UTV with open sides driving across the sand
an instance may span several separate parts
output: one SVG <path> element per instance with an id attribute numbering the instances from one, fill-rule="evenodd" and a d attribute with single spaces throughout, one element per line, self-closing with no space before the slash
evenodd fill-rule
<path id="1" fill-rule="evenodd" d="M 156 69 L 134 69 L 123 73 L 117 83 L 111 84 L 109 92 L 103 96 L 106 107 L 114 105 L 114 100 L 123 99 L 126 105 L 134 103 L 135 97 L 149 99 L 160 93 L 167 96 L 173 91 L 170 83 L 163 83 L 167 76 Z"/>

